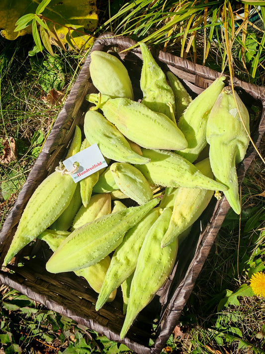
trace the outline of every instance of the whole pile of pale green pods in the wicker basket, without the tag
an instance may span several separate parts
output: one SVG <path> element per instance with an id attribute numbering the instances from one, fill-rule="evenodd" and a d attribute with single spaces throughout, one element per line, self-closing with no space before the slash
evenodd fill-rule
<path id="1" fill-rule="evenodd" d="M 178 244 L 214 193 L 223 192 L 240 214 L 236 165 L 250 141 L 248 111 L 224 76 L 192 100 L 139 45 L 141 102 L 120 59 L 90 54 L 99 93 L 87 95 L 94 106 L 84 127 L 76 126 L 66 158 L 97 144 L 108 167 L 78 183 L 64 166 L 51 173 L 26 205 L 4 259 L 6 265 L 41 238 L 53 251 L 47 271 L 85 277 L 98 293 L 97 311 L 121 286 L 121 338 L 166 282 Z"/>

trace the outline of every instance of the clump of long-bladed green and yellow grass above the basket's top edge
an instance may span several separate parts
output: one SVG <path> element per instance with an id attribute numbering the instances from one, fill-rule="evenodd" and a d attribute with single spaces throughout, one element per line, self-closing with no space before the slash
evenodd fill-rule
<path id="1" fill-rule="evenodd" d="M 213 69 L 229 69 L 231 75 L 262 85 L 265 7 L 256 3 L 254 0 L 114 1 L 97 31 L 126 35 Z M 254 13 L 259 19 L 255 23 Z"/>

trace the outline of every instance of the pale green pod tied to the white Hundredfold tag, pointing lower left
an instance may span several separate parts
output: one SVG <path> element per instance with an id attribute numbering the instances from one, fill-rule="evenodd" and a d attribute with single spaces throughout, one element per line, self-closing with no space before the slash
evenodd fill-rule
<path id="1" fill-rule="evenodd" d="M 75 190 L 72 177 L 61 172 L 55 171 L 42 181 L 21 215 L 3 265 L 55 222 L 68 207 Z"/>

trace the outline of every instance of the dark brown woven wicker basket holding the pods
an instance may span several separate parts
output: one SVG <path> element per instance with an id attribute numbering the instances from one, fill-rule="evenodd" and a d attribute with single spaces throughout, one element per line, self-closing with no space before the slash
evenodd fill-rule
<path id="1" fill-rule="evenodd" d="M 135 89 L 135 98 L 139 99 L 141 98 L 139 84 L 142 67 L 141 52 L 139 49 L 125 51 L 134 44 L 131 39 L 112 37 L 107 33 L 95 40 L 92 50 L 112 50 L 112 53 L 123 61 Z M 203 91 L 220 75 L 214 70 L 195 65 L 166 52 L 152 52 L 152 54 L 163 70 L 171 70 L 177 75 L 192 97 Z M 1 264 L 24 206 L 40 182 L 54 171 L 59 161 L 63 159 L 75 125 L 83 123 L 84 113 L 89 107 L 85 96 L 96 92 L 89 78 L 89 62 L 88 57 L 3 225 L 0 233 Z M 250 110 L 251 135 L 258 147 L 265 132 L 265 89 L 236 78 L 233 82 L 235 89 Z M 255 113 L 257 110 L 253 110 L 253 106 L 260 108 L 258 114 Z M 240 183 L 255 155 L 256 150 L 250 144 L 244 161 L 238 166 Z M 41 240 L 24 247 L 11 265 L 0 270 L 0 282 L 44 304 L 48 309 L 107 336 L 112 341 L 124 343 L 136 353 L 159 354 L 177 325 L 181 311 L 228 210 L 229 205 L 224 197 L 219 201 L 215 198 L 211 200 L 200 220 L 194 224 L 188 242 L 182 243 L 168 282 L 139 314 L 127 337 L 122 341 L 119 338 L 124 320 L 121 292 L 117 292 L 112 303 L 107 303 L 96 312 L 94 304 L 97 294 L 88 286 L 85 279 L 78 278 L 74 272 L 51 274 L 46 271 L 45 263 L 51 255 L 51 250 Z M 36 257 L 30 257 L 31 255 Z M 29 257 L 24 258 L 24 256 Z M 18 266 L 22 257 L 23 266 Z M 10 272 L 9 269 L 12 271 Z M 155 341 L 151 347 L 149 347 L 150 338 Z"/>

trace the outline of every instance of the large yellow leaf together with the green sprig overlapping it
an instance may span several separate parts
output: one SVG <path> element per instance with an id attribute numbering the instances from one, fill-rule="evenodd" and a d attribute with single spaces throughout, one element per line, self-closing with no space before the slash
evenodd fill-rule
<path id="1" fill-rule="evenodd" d="M 15 39 L 18 35 L 31 33 L 37 49 L 45 48 L 54 55 L 53 44 L 63 50 L 71 48 L 75 51 L 89 48 L 93 42 L 92 31 L 97 25 L 95 1 L 84 6 L 83 1 L 42 0 L 2 1 L 0 11 L 1 34 L 7 39 Z M 72 14 L 75 12 L 75 16 Z M 7 20 L 3 14 L 7 14 Z"/>

